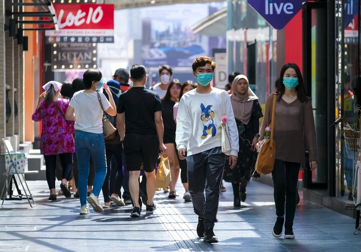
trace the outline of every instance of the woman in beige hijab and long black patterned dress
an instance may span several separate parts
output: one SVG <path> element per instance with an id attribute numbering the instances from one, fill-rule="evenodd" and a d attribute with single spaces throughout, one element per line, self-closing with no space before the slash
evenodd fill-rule
<path id="1" fill-rule="evenodd" d="M 258 97 L 249 88 L 246 76 L 240 74 L 232 82 L 231 104 L 239 136 L 239 153 L 236 166 L 225 166 L 223 179 L 232 183 L 234 206 L 240 206 L 247 196 L 246 187 L 255 166 L 260 118 L 263 116 Z"/>

